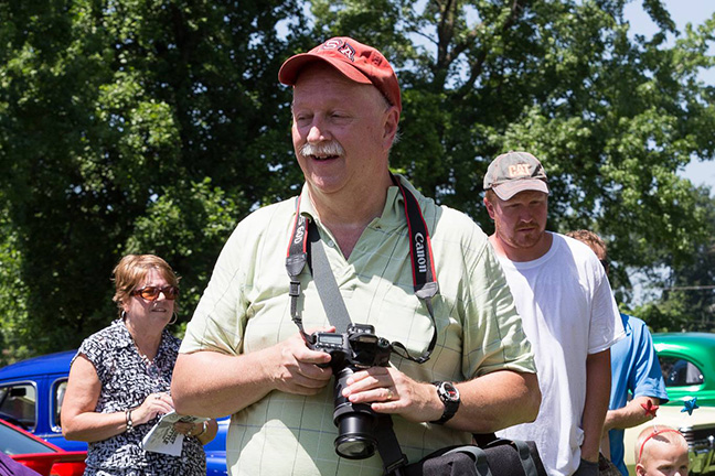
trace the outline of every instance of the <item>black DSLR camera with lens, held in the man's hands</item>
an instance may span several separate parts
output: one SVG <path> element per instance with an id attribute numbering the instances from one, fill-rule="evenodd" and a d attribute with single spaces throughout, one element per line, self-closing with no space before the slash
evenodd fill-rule
<path id="1" fill-rule="evenodd" d="M 374 434 L 377 415 L 365 403 L 351 403 L 342 396 L 345 380 L 355 371 L 369 367 L 387 367 L 392 345 L 375 335 L 375 328 L 367 324 L 351 324 L 344 334 L 314 333 L 308 339 L 308 347 L 330 354 L 330 364 L 335 376 L 333 388 L 333 423 L 338 426 L 335 453 L 349 459 L 372 456 L 377 448 Z M 312 342 L 312 344 L 311 344 Z"/>

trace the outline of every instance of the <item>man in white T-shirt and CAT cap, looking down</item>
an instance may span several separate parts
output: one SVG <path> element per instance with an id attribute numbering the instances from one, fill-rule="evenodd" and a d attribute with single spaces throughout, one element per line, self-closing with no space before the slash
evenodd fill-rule
<path id="1" fill-rule="evenodd" d="M 484 175 L 489 237 L 534 346 L 542 404 L 533 423 L 498 433 L 536 442 L 551 476 L 598 475 L 610 394 L 610 347 L 623 336 L 608 278 L 580 241 L 546 231 L 542 163 L 508 152 Z"/>

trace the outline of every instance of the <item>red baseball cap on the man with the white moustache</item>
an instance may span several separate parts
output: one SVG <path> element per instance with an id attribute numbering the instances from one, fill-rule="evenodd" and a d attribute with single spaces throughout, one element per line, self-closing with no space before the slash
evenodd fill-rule
<path id="1" fill-rule="evenodd" d="M 289 57 L 280 66 L 278 80 L 295 86 L 300 71 L 309 63 L 328 63 L 346 78 L 360 84 L 372 84 L 387 101 L 402 111 L 399 83 L 387 60 L 372 46 L 346 36 L 332 37 L 308 53 Z"/>

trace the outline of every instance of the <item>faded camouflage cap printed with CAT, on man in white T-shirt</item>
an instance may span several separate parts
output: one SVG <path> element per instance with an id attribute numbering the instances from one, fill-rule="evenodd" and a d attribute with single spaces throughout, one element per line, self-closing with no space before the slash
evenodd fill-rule
<path id="1" fill-rule="evenodd" d="M 493 190 L 497 196 L 508 201 L 519 192 L 536 191 L 548 194 L 546 172 L 529 152 L 509 151 L 489 164 L 484 175 L 484 190 Z"/>

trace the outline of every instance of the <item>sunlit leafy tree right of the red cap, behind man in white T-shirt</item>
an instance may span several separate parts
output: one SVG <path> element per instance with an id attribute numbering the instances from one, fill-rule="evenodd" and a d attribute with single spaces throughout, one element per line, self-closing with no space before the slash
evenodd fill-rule
<path id="1" fill-rule="evenodd" d="M 679 36 L 660 26 L 630 39 L 618 0 L 366 0 L 311 2 L 316 36 L 377 45 L 403 86 L 402 141 L 392 165 L 428 195 L 491 231 L 482 199 L 489 162 L 529 150 L 549 175 L 549 227 L 608 239 L 626 269 L 682 269 L 707 241 L 693 185 L 676 173 L 712 160 L 715 20 Z"/>

